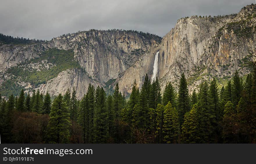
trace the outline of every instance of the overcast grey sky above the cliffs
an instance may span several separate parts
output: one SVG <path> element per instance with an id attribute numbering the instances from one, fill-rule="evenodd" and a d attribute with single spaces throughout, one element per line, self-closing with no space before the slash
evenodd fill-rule
<path id="1" fill-rule="evenodd" d="M 0 33 L 51 38 L 89 29 L 163 37 L 181 17 L 238 13 L 255 0 L 0 0 Z"/>

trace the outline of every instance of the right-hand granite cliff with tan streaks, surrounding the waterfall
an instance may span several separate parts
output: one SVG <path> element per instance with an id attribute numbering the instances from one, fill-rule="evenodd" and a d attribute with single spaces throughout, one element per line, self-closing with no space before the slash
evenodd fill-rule
<path id="1" fill-rule="evenodd" d="M 157 51 L 157 75 L 162 89 L 169 81 L 177 86 L 182 72 L 189 77 L 190 90 L 197 88 L 201 80 L 210 80 L 206 78 L 209 75 L 230 78 L 236 69 L 241 74 L 249 73 L 248 66 L 256 56 L 255 13 L 256 5 L 250 5 L 237 15 L 192 16 L 178 20 L 159 46 L 142 56 L 136 66 L 129 68 L 117 80 L 119 87 L 130 92 L 133 79 L 141 84 L 145 73 L 151 77 Z"/>

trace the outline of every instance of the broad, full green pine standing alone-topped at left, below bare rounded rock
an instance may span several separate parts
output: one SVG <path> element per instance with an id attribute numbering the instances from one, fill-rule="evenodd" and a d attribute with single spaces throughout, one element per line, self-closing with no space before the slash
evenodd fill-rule
<path id="1" fill-rule="evenodd" d="M 49 117 L 50 120 L 47 125 L 48 142 L 69 143 L 70 117 L 68 107 L 61 94 L 54 98 Z"/>

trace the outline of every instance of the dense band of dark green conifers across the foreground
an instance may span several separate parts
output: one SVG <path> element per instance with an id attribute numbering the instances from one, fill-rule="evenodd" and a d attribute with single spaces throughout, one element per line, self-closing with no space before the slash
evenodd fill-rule
<path id="1" fill-rule="evenodd" d="M 255 143 L 256 69 L 243 82 L 238 71 L 218 90 L 216 79 L 189 94 L 184 73 L 177 91 L 158 78 L 136 80 L 126 101 L 118 83 L 112 95 L 88 86 L 77 99 L 67 90 L 53 101 L 33 91 L 1 98 L 3 143 Z"/>

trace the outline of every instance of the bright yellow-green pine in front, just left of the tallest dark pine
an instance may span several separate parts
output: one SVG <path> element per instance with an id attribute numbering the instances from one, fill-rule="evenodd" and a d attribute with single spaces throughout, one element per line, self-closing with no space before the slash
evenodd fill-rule
<path id="1" fill-rule="evenodd" d="M 169 102 L 165 107 L 163 113 L 163 140 L 166 143 L 178 143 L 179 137 L 179 122 L 178 122 L 178 111 L 172 107 Z"/>

